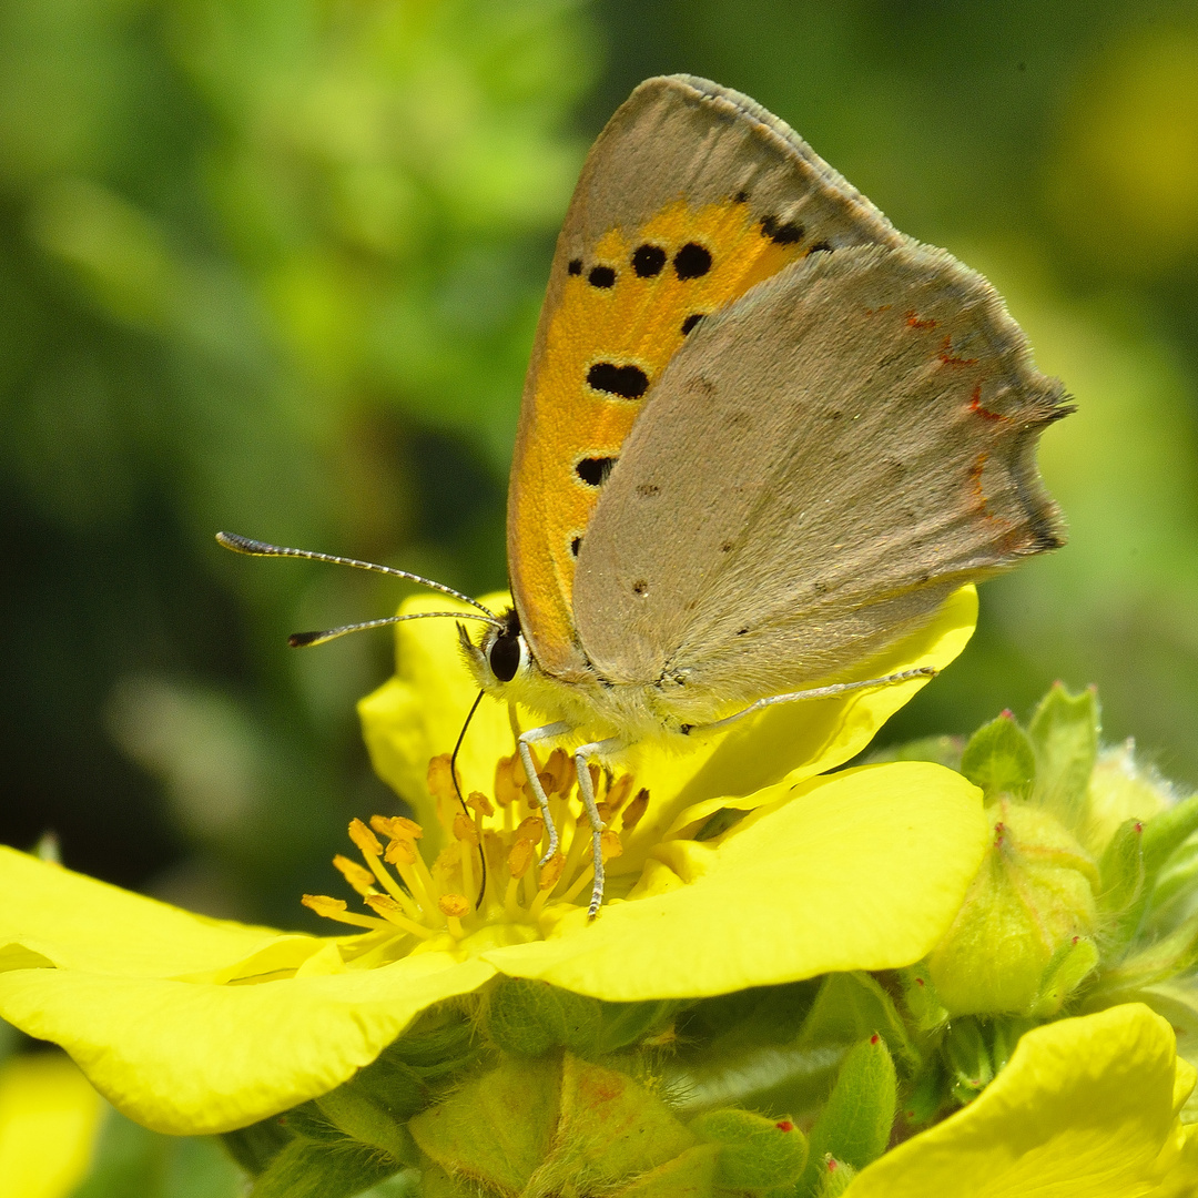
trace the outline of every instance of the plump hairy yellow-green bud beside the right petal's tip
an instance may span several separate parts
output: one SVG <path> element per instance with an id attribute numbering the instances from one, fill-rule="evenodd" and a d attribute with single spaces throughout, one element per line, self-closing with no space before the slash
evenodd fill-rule
<path id="1" fill-rule="evenodd" d="M 1097 870 L 1043 809 L 1000 798 L 986 815 L 994 839 L 928 976 L 950 1015 L 1031 1014 L 1057 952 L 1095 930 Z"/>

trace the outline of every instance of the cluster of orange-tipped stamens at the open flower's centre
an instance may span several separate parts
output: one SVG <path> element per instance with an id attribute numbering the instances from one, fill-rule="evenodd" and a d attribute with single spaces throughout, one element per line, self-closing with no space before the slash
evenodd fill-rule
<path id="1" fill-rule="evenodd" d="M 328 895 L 304 895 L 304 906 L 341 924 L 415 942 L 444 933 L 462 940 L 495 922 L 539 926 L 547 904 L 589 896 L 594 860 L 591 824 L 569 755 L 555 749 L 544 767 L 538 766 L 537 776 L 561 835 L 552 857 L 544 857 L 549 831 L 534 813 L 537 800 L 518 756 L 500 758 L 492 798 L 472 791 L 462 801 L 444 754 L 429 762 L 429 793 L 447 841 L 432 865 L 420 855 L 424 829 L 415 821 L 371 816 L 368 825 L 352 819 L 350 840 L 365 865 L 341 854 L 333 865 L 373 914 L 350 910 L 344 898 Z M 645 815 L 649 792 L 636 791 L 631 774 L 616 778 L 594 766 L 591 780 L 604 822 L 600 843 L 606 863 L 623 852 L 621 837 Z"/>

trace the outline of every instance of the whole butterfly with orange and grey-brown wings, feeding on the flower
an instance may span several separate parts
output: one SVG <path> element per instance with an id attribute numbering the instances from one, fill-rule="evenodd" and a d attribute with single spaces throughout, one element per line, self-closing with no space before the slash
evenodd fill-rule
<path id="1" fill-rule="evenodd" d="M 961 586 L 1064 543 L 1035 461 L 1063 395 L 981 276 L 776 116 L 691 75 L 633 92 L 557 241 L 508 494 L 514 606 L 418 579 L 476 609 L 480 692 L 545 719 L 519 736 L 545 860 L 531 746 L 575 745 L 592 916 L 588 764 L 928 673 L 854 676 Z"/>

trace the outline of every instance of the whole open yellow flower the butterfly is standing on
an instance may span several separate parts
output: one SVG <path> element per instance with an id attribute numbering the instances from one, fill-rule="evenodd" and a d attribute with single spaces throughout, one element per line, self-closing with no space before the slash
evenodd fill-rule
<path id="1" fill-rule="evenodd" d="M 973 591 L 960 592 L 878 672 L 946 665 L 975 612 Z M 690 755 L 646 746 L 630 781 L 604 786 L 619 807 L 605 842 L 610 901 L 588 924 L 562 758 L 541 769 L 565 852 L 540 869 L 504 709 L 484 700 L 466 738 L 471 815 L 447 762 L 434 762 L 429 788 L 430 758 L 453 745 L 473 695 L 452 621 L 399 628 L 401 673 L 362 714 L 376 767 L 416 821 L 352 825 L 365 864 L 338 864 L 362 910 L 308 897 L 363 932 L 205 919 L 0 851 L 0 1016 L 62 1045 L 146 1126 L 223 1131 L 325 1094 L 420 1011 L 500 973 L 635 1000 L 909 964 L 944 934 L 978 870 L 980 792 L 958 774 L 900 762 L 815 776 L 864 748 L 918 689 L 908 683 L 775 708 Z M 749 813 L 713 835 L 713 815 L 731 823 L 726 809 Z"/>

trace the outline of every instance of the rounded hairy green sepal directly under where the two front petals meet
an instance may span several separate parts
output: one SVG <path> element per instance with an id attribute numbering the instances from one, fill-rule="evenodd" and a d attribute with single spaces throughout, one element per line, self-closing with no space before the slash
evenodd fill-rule
<path id="1" fill-rule="evenodd" d="M 488 994 L 483 1023 L 496 1047 L 519 1057 L 553 1048 L 589 1054 L 599 1042 L 603 1008 L 599 999 L 549 982 L 504 978 Z"/>

